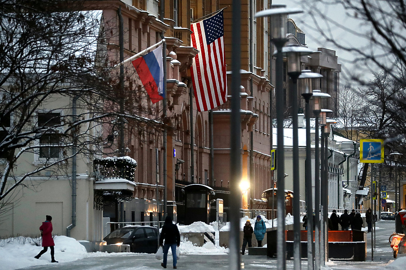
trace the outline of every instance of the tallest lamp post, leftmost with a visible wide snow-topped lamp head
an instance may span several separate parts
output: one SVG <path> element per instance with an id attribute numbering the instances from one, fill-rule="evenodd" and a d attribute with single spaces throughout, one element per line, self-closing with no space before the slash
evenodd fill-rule
<path id="1" fill-rule="evenodd" d="M 284 5 L 272 5 L 271 9 L 257 12 L 255 17 L 270 17 L 270 37 L 277 48 L 276 54 L 276 111 L 277 111 L 277 209 L 278 209 L 278 269 L 286 268 L 286 240 L 285 240 L 285 177 L 284 177 L 284 140 L 283 140 L 283 59 L 282 47 L 286 43 L 286 16 L 301 13 L 299 9 L 287 9 Z M 272 134 L 272 132 L 270 133 Z M 282 192 L 281 192 L 282 191 Z"/>

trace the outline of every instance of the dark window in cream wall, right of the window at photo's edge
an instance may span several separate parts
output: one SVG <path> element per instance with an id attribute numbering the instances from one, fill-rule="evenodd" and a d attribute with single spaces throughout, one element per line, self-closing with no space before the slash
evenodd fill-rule
<path id="1" fill-rule="evenodd" d="M 44 131 L 40 138 L 40 145 L 49 145 L 40 147 L 40 159 L 59 159 L 60 117 L 60 112 L 38 113 L 38 127 Z M 52 127 L 56 127 L 56 129 L 52 129 Z"/>

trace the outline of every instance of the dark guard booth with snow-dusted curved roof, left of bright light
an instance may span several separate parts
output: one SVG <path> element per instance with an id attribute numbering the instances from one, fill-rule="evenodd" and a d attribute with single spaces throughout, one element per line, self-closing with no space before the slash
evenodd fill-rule
<path id="1" fill-rule="evenodd" d="M 190 184 L 183 188 L 185 192 L 184 222 L 190 225 L 195 221 L 210 223 L 210 195 L 214 190 L 203 184 Z"/>

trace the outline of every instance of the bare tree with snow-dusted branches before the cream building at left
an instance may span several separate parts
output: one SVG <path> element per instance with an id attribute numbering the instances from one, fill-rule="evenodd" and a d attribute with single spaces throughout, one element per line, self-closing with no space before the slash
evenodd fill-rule
<path id="1" fill-rule="evenodd" d="M 0 209 L 30 176 L 68 174 L 73 156 L 114 151 L 123 119 L 128 129 L 158 133 L 165 122 L 148 106 L 134 69 L 118 90 L 106 46 L 106 32 L 118 31 L 103 28 L 100 11 L 78 11 L 83 3 L 0 2 Z M 124 114 L 120 100 L 127 100 Z M 27 155 L 40 162 L 17 170 Z"/>

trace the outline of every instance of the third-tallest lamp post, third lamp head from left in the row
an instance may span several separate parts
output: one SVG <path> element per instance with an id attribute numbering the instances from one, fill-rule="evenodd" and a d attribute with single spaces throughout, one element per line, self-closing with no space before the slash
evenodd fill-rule
<path id="1" fill-rule="evenodd" d="M 306 214 L 308 222 L 308 269 L 314 268 L 314 243 L 313 243 L 313 188 L 312 188 L 312 148 L 310 140 L 310 98 L 312 97 L 312 80 L 322 77 L 319 73 L 311 72 L 310 70 L 302 70 L 299 79 L 303 79 L 304 88 L 302 97 L 306 101 L 306 161 L 304 163 L 304 184 L 306 188 Z"/>

